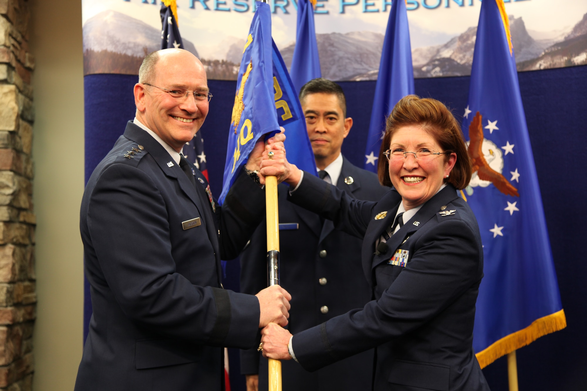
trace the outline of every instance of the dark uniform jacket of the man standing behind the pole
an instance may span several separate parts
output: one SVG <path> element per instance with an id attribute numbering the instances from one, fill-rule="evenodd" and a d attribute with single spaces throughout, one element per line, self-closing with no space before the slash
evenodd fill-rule
<path id="1" fill-rule="evenodd" d="M 389 190 L 380 186 L 375 174 L 353 166 L 344 157 L 337 187 L 349 197 L 371 201 L 379 200 Z M 335 230 L 332 221 L 322 223 L 317 214 L 288 202 L 288 191 L 288 186 L 279 185 L 279 265 L 281 286 L 292 295 L 288 329 L 297 333 L 364 306 L 372 292 L 362 273 L 362 240 Z M 399 194 L 394 194 L 399 202 Z M 267 286 L 266 253 L 264 222 L 241 254 L 241 292 L 256 294 Z M 321 312 L 323 306 L 328 307 L 326 314 Z M 282 368 L 284 391 L 369 389 L 373 350 L 314 373 L 292 361 L 282 362 Z M 268 388 L 267 360 L 256 348 L 241 350 L 241 373 L 259 373 L 259 390 Z"/>

